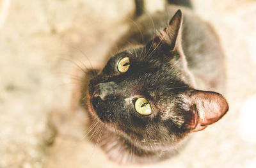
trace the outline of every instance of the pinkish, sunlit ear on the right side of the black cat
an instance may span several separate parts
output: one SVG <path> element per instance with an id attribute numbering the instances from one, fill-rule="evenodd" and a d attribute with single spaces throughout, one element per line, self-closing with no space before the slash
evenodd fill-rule
<path id="1" fill-rule="evenodd" d="M 204 130 L 208 125 L 221 119 L 228 111 L 227 100 L 219 93 L 211 91 L 193 91 L 189 95 L 188 105 L 191 118 L 187 128 L 191 132 Z"/>

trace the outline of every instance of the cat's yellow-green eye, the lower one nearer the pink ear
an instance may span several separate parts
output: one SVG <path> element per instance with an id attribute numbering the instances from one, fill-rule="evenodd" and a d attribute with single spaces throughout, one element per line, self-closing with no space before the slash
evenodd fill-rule
<path id="1" fill-rule="evenodd" d="M 150 104 L 148 103 L 148 100 L 146 100 L 145 98 L 138 98 L 136 100 L 135 109 L 141 115 L 149 115 L 152 113 Z"/>

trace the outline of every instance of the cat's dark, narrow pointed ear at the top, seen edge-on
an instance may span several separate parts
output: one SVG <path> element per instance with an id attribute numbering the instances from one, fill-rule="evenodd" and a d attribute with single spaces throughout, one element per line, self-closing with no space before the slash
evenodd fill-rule
<path id="1" fill-rule="evenodd" d="M 182 12 L 177 10 L 168 26 L 161 31 L 153 40 L 147 43 L 147 48 L 157 49 L 164 47 L 168 52 L 181 46 Z"/>

